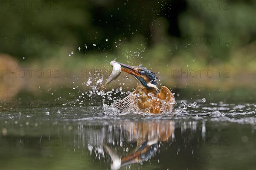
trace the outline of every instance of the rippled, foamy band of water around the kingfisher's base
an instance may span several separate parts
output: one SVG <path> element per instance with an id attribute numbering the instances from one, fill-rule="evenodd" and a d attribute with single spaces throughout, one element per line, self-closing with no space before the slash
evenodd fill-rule
<path id="1" fill-rule="evenodd" d="M 186 101 L 187 102 L 187 101 Z M 187 102 L 188 103 L 188 102 Z M 193 103 L 193 102 L 192 102 Z M 186 104 L 188 106 L 189 104 Z M 68 106 L 60 105 L 55 108 L 40 108 L 40 110 L 23 110 L 17 112 L 3 111 L 1 113 L 1 123 L 8 122 L 15 124 L 15 122 L 26 123 L 36 122 L 38 118 L 41 121 L 112 121 L 112 120 L 178 120 L 178 119 L 194 119 L 205 121 L 218 121 L 218 122 L 236 122 L 239 124 L 256 124 L 256 111 L 255 104 L 228 104 L 228 103 L 197 103 L 191 105 L 186 110 L 182 108 L 181 102 L 177 102 L 175 112 L 149 114 L 139 113 L 135 111 L 119 113 L 116 108 L 107 104 L 96 106 Z M 181 107 L 179 107 L 181 106 Z"/>

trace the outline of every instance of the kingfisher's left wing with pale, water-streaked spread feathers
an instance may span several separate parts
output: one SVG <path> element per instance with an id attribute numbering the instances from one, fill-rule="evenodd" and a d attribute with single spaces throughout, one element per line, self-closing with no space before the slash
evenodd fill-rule
<path id="1" fill-rule="evenodd" d="M 129 94 L 128 96 L 126 96 L 125 98 L 120 100 L 119 102 L 114 103 L 113 107 L 117 108 L 120 112 L 125 112 L 125 111 L 130 110 L 134 106 L 134 94 L 135 93 L 136 93 L 136 91 L 132 92 L 131 94 Z"/>

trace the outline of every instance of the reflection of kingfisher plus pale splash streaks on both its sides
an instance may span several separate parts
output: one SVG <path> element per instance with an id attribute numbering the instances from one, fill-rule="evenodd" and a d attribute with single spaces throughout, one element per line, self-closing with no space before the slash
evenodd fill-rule
<path id="1" fill-rule="evenodd" d="M 87 147 L 96 159 L 107 160 L 111 169 L 116 170 L 134 163 L 150 161 L 160 150 L 172 149 L 173 153 L 177 150 L 178 154 L 182 147 L 191 145 L 189 152 L 193 154 L 199 142 L 204 141 L 202 136 L 205 136 L 205 123 L 199 124 L 200 127 L 198 122 L 179 123 L 166 120 L 119 121 L 100 127 L 79 125 L 78 139 L 81 141 L 76 143 Z"/>

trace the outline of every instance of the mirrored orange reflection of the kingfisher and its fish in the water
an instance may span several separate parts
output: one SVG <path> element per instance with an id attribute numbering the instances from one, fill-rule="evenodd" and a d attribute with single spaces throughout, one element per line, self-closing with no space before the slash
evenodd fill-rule
<path id="1" fill-rule="evenodd" d="M 107 129 L 98 131 L 99 133 L 94 131 L 94 135 L 96 141 L 104 139 L 100 147 L 111 157 L 111 169 L 116 170 L 154 157 L 160 149 L 159 142 L 168 141 L 174 129 L 173 121 L 121 122 L 119 125 L 108 126 Z M 136 147 L 128 154 L 125 154 L 125 149 L 120 153 L 118 147 L 125 144 L 135 144 Z"/>

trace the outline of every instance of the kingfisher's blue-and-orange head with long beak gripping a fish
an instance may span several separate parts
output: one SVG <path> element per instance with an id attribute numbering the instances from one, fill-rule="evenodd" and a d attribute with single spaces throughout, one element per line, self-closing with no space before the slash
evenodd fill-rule
<path id="1" fill-rule="evenodd" d="M 155 77 L 156 73 L 141 66 L 131 66 L 122 63 L 119 64 L 122 67 L 122 71 L 133 75 L 145 88 L 158 90 L 157 77 Z"/>

